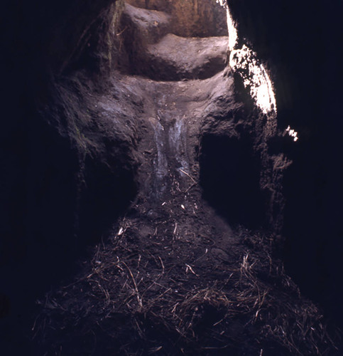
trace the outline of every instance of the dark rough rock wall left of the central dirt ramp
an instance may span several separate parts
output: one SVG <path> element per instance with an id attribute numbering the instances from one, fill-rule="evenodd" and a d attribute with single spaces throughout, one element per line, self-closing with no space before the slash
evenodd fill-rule
<path id="1" fill-rule="evenodd" d="M 137 104 L 116 115 L 107 107 L 109 95 L 122 95 L 106 77 L 122 8 L 15 1 L 4 11 L 0 293 L 11 300 L 1 314 L 13 330 L 136 194 Z"/>

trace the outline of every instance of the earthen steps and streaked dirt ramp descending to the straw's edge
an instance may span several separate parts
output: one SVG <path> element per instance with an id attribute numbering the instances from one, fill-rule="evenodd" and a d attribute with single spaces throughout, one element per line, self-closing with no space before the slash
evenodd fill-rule
<path id="1" fill-rule="evenodd" d="M 202 199 L 198 161 L 204 117 L 215 115 L 222 98 L 232 92 L 232 77 L 225 72 L 228 37 L 177 36 L 170 33 L 170 15 L 130 4 L 124 18 L 139 46 L 132 58 L 136 73 L 122 74 L 119 81 L 144 98 L 140 189 L 136 214 L 126 218 L 125 226 L 134 226 L 129 234 L 143 241 L 146 236 L 138 231 L 150 231 L 151 239 L 162 239 L 166 246 L 178 240 L 173 253 L 180 256 L 187 256 L 186 246 L 203 253 L 209 244 L 212 262 L 233 263 L 234 234 Z"/>

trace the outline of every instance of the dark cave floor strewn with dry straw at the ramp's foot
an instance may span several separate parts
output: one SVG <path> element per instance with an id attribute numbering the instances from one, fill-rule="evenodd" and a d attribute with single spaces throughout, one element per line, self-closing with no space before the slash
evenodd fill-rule
<path id="1" fill-rule="evenodd" d="M 97 341 L 85 355 L 100 355 L 99 342 L 120 355 L 338 352 L 338 334 L 333 341 L 315 305 L 273 261 L 266 236 L 241 229 L 241 263 L 214 280 L 213 266 L 175 259 L 163 246 L 138 251 L 130 227 L 120 232 L 97 246 L 85 276 L 42 301 L 34 330 L 51 355 L 87 352 L 87 335 Z M 113 355 L 111 347 L 102 354 Z"/>

